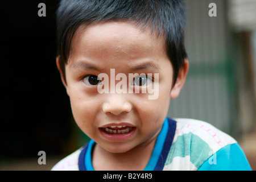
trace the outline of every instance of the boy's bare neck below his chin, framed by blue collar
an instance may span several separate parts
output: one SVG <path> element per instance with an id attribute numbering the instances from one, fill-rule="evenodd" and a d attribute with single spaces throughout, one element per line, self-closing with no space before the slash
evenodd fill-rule
<path id="1" fill-rule="evenodd" d="M 94 147 L 92 155 L 93 168 L 96 171 L 142 171 L 150 160 L 158 134 L 130 151 L 125 153 L 112 153 L 104 150 L 98 144 Z"/>

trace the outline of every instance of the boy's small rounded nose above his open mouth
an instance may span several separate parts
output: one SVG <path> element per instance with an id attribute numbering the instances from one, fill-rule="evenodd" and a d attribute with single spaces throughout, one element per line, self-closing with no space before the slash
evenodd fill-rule
<path id="1" fill-rule="evenodd" d="M 102 105 L 102 110 L 105 114 L 114 115 L 129 113 L 131 108 L 131 103 L 122 94 L 110 94 L 108 100 Z"/>

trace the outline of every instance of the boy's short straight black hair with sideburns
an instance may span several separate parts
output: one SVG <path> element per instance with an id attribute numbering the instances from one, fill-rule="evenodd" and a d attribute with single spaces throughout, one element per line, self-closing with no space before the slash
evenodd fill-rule
<path id="1" fill-rule="evenodd" d="M 57 56 L 64 79 L 72 38 L 81 24 L 130 20 L 164 37 L 175 84 L 187 57 L 184 47 L 187 11 L 182 0 L 61 0 L 56 13 Z"/>

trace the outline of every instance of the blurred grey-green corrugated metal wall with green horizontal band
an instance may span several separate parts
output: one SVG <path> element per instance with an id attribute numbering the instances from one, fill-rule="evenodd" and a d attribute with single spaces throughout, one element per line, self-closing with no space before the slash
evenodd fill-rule
<path id="1" fill-rule="evenodd" d="M 180 96 L 171 100 L 169 117 L 201 119 L 231 132 L 235 123 L 233 67 L 229 60 L 226 1 L 187 0 L 185 46 L 189 72 Z M 210 17 L 209 3 L 217 16 Z"/>

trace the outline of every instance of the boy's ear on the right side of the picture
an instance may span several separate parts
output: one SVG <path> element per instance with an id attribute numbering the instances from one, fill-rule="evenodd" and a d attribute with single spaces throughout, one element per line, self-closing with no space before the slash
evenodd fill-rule
<path id="1" fill-rule="evenodd" d="M 180 69 L 179 74 L 176 79 L 175 85 L 172 87 L 171 90 L 171 98 L 176 98 L 180 94 L 180 90 L 183 88 L 183 85 L 185 83 L 187 73 L 188 73 L 188 60 L 184 60 L 184 67 Z"/>

